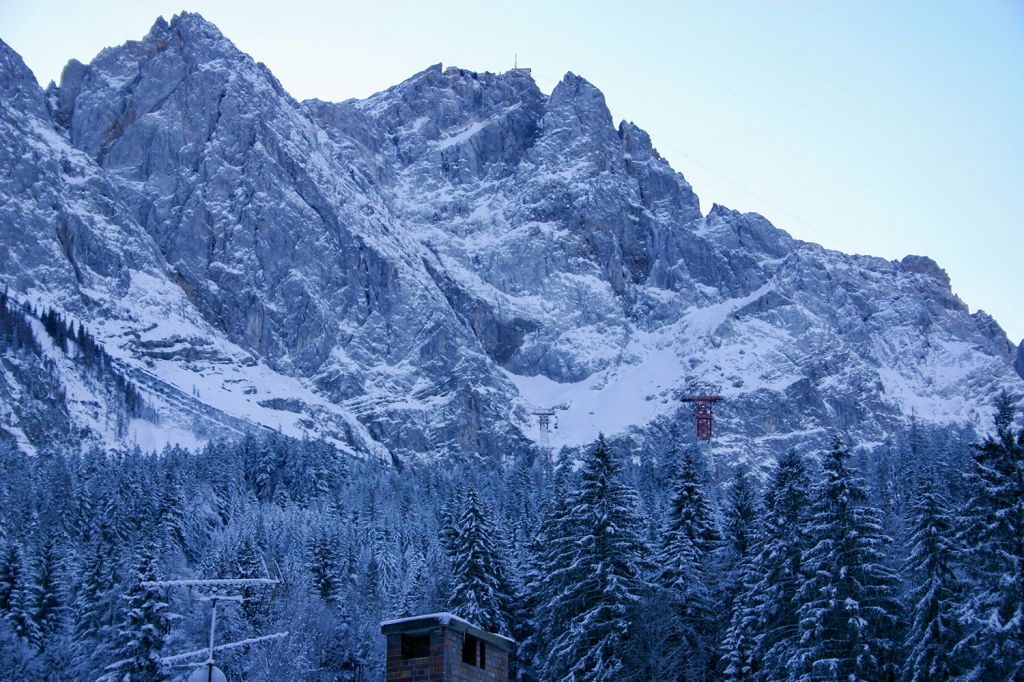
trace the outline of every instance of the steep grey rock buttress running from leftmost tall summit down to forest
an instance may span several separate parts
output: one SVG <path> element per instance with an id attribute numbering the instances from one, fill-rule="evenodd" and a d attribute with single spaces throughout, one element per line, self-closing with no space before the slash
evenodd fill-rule
<path id="1" fill-rule="evenodd" d="M 474 386 L 501 379 L 487 376 L 422 248 L 395 229 L 351 144 L 331 140 L 214 27 L 160 22 L 139 43 L 73 65 L 51 100 L 207 322 L 334 402 L 362 410 L 368 393 L 383 393 L 370 426 L 389 446 L 484 446 L 474 413 L 508 407 Z M 438 396 L 422 376 L 393 371 L 407 363 L 431 385 L 464 374 Z M 411 428 L 418 416 L 388 407 L 409 393 L 451 402 L 446 428 Z"/>

